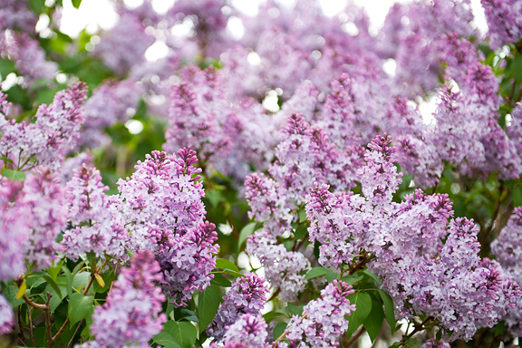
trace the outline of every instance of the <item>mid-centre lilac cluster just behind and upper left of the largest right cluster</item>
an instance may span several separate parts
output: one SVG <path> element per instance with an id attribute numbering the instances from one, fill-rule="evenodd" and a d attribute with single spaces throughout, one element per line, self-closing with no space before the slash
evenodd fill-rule
<path id="1" fill-rule="evenodd" d="M 296 219 L 293 211 L 304 203 L 314 182 L 327 182 L 338 190 L 353 188 L 361 152 L 358 147 L 335 148 L 325 132 L 310 126 L 301 114 L 287 117 L 281 134 L 277 160 L 268 169 L 273 179 L 253 174 L 246 180 L 251 216 L 265 220 L 265 228 L 274 234 L 290 229 Z"/>

